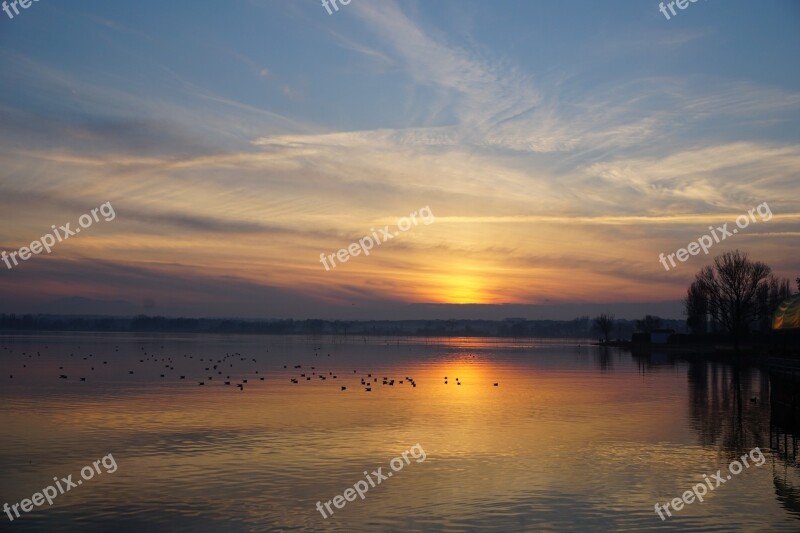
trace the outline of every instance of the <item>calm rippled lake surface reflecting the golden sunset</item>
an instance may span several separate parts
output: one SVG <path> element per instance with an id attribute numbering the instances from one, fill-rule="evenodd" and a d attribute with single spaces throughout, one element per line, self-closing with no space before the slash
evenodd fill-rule
<path id="1" fill-rule="evenodd" d="M 117 465 L 3 531 L 800 530 L 757 369 L 575 342 L 54 334 L 0 336 L 0 383 L 0 504 Z M 424 461 L 316 509 L 416 444 Z M 762 466 L 655 514 L 754 447 Z"/>

